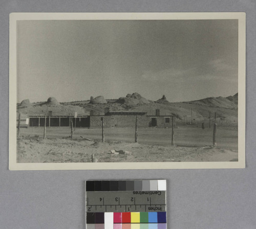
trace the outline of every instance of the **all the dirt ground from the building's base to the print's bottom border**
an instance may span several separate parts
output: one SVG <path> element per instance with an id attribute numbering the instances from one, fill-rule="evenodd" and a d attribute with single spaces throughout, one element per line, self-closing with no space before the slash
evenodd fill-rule
<path id="1" fill-rule="evenodd" d="M 40 127 L 21 130 L 18 163 L 92 162 L 92 154 L 98 162 L 229 162 L 238 158 L 234 127 L 218 129 L 217 148 L 210 147 L 212 129 L 196 127 L 175 129 L 175 147 L 170 145 L 170 129 L 162 128 L 139 129 L 139 143 L 133 143 L 133 128 L 106 129 L 105 143 L 100 141 L 100 129 L 77 128 L 73 140 L 69 128 L 48 128 L 45 140 L 42 133 Z M 131 155 L 111 154 L 111 150 Z"/>

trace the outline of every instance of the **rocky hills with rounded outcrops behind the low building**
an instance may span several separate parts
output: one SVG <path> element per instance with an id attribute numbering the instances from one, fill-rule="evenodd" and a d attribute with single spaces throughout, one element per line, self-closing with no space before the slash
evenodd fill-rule
<path id="1" fill-rule="evenodd" d="M 24 100 L 17 104 L 20 113 L 28 115 L 44 115 L 47 110 L 52 111 L 53 115 L 89 115 L 104 114 L 105 110 L 130 110 L 144 111 L 149 115 L 155 116 L 156 109 L 160 110 L 160 115 L 175 114 L 179 120 L 190 116 L 193 112 L 195 121 L 207 120 L 209 113 L 213 116 L 217 112 L 217 118 L 227 122 L 237 123 L 238 119 L 238 94 L 224 97 L 209 97 L 196 101 L 170 103 L 163 95 L 162 98 L 153 102 L 142 97 L 138 93 L 127 94 L 126 97 L 119 99 L 104 99 L 103 96 L 90 100 L 59 103 L 55 98 L 50 97 L 46 102 L 30 103 Z"/>

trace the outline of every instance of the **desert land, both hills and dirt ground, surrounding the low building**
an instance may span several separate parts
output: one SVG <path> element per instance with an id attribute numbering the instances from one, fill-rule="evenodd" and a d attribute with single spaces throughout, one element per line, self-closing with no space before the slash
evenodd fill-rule
<path id="1" fill-rule="evenodd" d="M 17 104 L 21 117 L 52 114 L 69 115 L 74 112 L 88 115 L 102 114 L 105 109 L 154 113 L 172 113 L 176 117 L 174 141 L 172 128 L 138 128 L 138 142 L 134 141 L 133 127 L 101 128 L 47 127 L 20 128 L 17 139 L 17 163 L 69 162 L 229 162 L 238 161 L 238 94 L 227 98 L 206 98 L 197 101 L 170 103 L 161 99 L 150 101 L 138 93 L 119 99 L 91 97 L 86 101 L 58 103 L 50 97 L 46 102 Z M 192 118 L 190 114 L 192 112 Z M 215 118 L 216 112 L 216 119 Z M 211 116 L 209 119 L 209 115 Z M 204 123 L 204 128 L 202 128 Z M 212 144 L 213 124 L 217 123 L 217 147 Z"/>

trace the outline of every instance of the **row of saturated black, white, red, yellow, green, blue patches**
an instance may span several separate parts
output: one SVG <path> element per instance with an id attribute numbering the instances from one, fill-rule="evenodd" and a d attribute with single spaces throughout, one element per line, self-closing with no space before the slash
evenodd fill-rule
<path id="1" fill-rule="evenodd" d="M 166 223 L 166 212 L 88 212 L 86 223 Z"/>

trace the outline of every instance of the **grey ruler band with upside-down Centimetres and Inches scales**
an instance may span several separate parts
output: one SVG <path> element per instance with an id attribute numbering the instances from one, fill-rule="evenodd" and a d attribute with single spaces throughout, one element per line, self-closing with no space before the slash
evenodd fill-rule
<path id="1" fill-rule="evenodd" d="M 165 212 L 165 191 L 87 191 L 87 212 Z"/>

